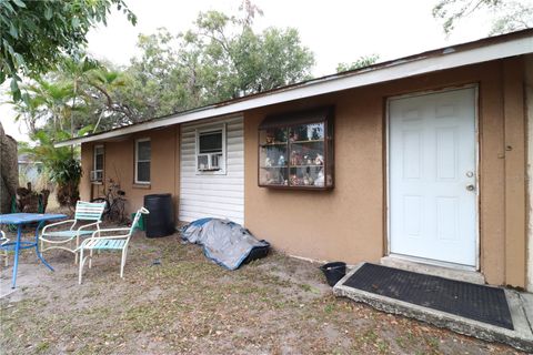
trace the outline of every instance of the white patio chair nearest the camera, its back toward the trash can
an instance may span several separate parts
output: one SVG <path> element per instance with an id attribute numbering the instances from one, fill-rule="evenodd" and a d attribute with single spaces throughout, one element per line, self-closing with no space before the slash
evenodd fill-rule
<path id="1" fill-rule="evenodd" d="M 120 261 L 120 277 L 124 278 L 124 264 L 125 257 L 128 255 L 128 243 L 130 242 L 131 235 L 141 217 L 142 214 L 150 213 L 147 209 L 141 207 L 137 211 L 131 227 L 129 229 L 107 229 L 99 230 L 92 233 L 92 236 L 84 240 L 80 245 L 80 274 L 78 276 L 78 283 L 81 285 L 81 276 L 83 274 L 83 265 L 86 264 L 87 258 L 89 258 L 89 268 L 92 266 L 92 252 L 93 251 L 120 251 L 122 252 L 122 258 Z M 102 236 L 102 234 L 108 234 Z M 89 252 L 89 255 L 83 256 L 84 253 Z"/>

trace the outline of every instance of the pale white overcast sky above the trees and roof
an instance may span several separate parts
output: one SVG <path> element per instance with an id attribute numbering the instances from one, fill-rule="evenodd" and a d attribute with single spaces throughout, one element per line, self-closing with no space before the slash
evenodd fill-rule
<path id="1" fill-rule="evenodd" d="M 303 45 L 313 51 L 313 75 L 335 72 L 340 62 L 353 62 L 362 55 L 379 54 L 380 61 L 402 58 L 431 49 L 473 41 L 490 29 L 486 16 L 463 21 L 446 38 L 431 10 L 438 0 L 254 0 L 263 17 L 255 18 L 258 31 L 268 27 L 296 28 Z M 237 13 L 241 0 L 125 0 L 137 14 L 133 27 L 125 16 L 113 11 L 108 26 L 99 26 L 88 36 L 88 51 L 97 59 L 127 65 L 138 52 L 139 33 L 153 33 L 165 27 L 171 33 L 191 28 L 200 11 Z M 3 101 L 3 100 L 2 100 Z M 27 141 L 22 125 L 13 123 L 9 105 L 0 105 L 6 132 Z"/>

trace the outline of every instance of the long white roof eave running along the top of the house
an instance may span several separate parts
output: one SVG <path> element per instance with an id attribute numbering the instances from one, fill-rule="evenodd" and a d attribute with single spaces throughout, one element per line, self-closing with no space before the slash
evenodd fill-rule
<path id="1" fill-rule="evenodd" d="M 93 135 L 58 142 L 54 146 L 67 146 L 93 141 L 108 140 L 120 135 L 169 126 L 208 118 L 239 114 L 247 110 L 266 106 L 315 95 L 410 78 L 430 72 L 487 62 L 533 52 L 533 32 L 529 36 L 511 38 L 507 41 L 455 50 L 454 47 L 432 51 L 431 54 L 410 57 L 348 74 L 339 74 L 313 80 L 302 84 L 255 94 L 234 101 L 217 103 L 200 110 L 177 113 L 164 119 L 151 120 Z"/>

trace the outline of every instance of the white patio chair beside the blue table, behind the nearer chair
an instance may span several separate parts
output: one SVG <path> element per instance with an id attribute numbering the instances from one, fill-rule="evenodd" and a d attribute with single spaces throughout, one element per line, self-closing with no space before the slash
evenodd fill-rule
<path id="1" fill-rule="evenodd" d="M 104 207 L 105 202 L 78 201 L 76 204 L 73 220 L 52 223 L 42 229 L 41 235 L 39 236 L 41 242 L 41 253 L 52 248 L 61 248 L 74 253 L 76 263 L 78 263 L 78 247 L 80 245 L 80 237 L 88 237 L 92 235 L 93 232 L 100 230 L 100 223 L 102 222 Z M 81 224 L 83 222 L 91 223 Z M 63 224 L 70 224 L 70 227 L 68 230 L 60 231 L 51 230 Z M 76 246 L 72 246 L 72 242 L 76 242 Z M 47 246 L 47 244 L 49 246 Z"/>

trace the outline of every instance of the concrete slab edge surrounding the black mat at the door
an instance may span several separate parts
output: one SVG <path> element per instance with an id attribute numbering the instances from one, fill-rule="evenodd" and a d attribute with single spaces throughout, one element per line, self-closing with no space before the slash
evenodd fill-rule
<path id="1" fill-rule="evenodd" d="M 505 296 L 513 318 L 514 331 L 497 327 L 482 322 L 476 322 L 450 313 L 419 306 L 408 302 L 376 295 L 365 291 L 344 286 L 361 266 L 352 268 L 334 287 L 336 296 L 349 297 L 355 302 L 362 302 L 372 307 L 398 315 L 415 318 L 438 327 L 447 328 L 453 332 L 474 336 L 487 342 L 499 342 L 511 345 L 517 349 L 533 352 L 533 295 L 519 293 L 513 290 L 505 290 Z"/>

